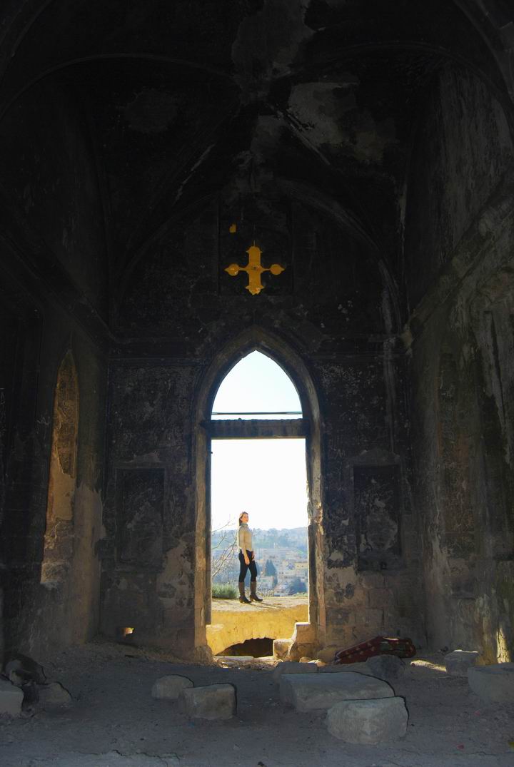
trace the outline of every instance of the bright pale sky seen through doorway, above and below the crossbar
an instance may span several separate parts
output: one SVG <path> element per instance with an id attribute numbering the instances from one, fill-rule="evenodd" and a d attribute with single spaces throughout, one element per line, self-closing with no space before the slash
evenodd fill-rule
<path id="1" fill-rule="evenodd" d="M 222 381 L 216 410 L 276 412 L 301 405 L 282 368 L 255 351 Z M 307 526 L 305 439 L 213 439 L 212 444 L 213 530 L 237 527 L 243 511 L 251 528 Z"/>

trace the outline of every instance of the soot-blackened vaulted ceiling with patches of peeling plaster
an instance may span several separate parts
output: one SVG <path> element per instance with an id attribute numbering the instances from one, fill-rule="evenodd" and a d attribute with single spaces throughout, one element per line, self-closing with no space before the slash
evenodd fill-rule
<path id="1" fill-rule="evenodd" d="M 471 0 L 13 3 L 1 114 L 44 84 L 84 118 L 114 285 L 213 194 L 279 188 L 336 201 L 397 273 L 423 84 L 451 58 L 504 94 L 493 21 L 508 18 L 495 12 Z"/>

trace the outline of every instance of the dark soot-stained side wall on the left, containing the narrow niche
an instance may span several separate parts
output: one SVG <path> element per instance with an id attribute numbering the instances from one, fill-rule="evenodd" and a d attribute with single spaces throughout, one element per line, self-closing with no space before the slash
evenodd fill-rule
<path id="1" fill-rule="evenodd" d="M 98 627 L 107 259 L 74 101 L 49 84 L 29 91 L 0 134 L 2 638 L 41 658 Z M 63 366 L 74 374 L 56 409 Z M 57 443 L 68 434 L 61 449 L 54 426 Z"/>

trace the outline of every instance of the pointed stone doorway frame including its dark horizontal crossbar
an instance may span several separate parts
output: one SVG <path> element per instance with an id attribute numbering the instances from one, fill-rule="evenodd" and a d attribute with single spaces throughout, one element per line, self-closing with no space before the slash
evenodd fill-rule
<path id="1" fill-rule="evenodd" d="M 213 409 L 222 381 L 254 351 L 280 367 L 294 384 L 300 406 L 296 413 L 227 413 Z M 246 406 L 245 406 L 246 407 Z M 214 410 L 214 415 L 213 415 Z M 287 409 L 289 410 L 289 408 Z M 294 409 L 293 409 L 294 410 Z M 309 622 L 315 644 L 325 636 L 322 577 L 320 416 L 315 387 L 305 364 L 286 344 L 258 328 L 246 331 L 219 353 L 203 378 L 196 420 L 196 569 L 195 645 L 206 650 L 206 625 L 211 612 L 211 451 L 213 439 L 305 439 L 308 513 Z M 217 414 L 216 414 L 217 413 Z M 268 417 L 268 416 L 272 417 Z M 238 417 L 239 416 L 239 417 Z M 256 417 L 255 417 L 256 416 Z M 273 417 L 278 416 L 278 417 Z M 276 525 L 278 527 L 278 525 Z"/>

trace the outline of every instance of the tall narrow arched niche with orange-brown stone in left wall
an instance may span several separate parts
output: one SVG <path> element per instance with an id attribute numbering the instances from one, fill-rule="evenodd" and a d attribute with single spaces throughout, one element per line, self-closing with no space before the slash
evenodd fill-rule
<path id="1" fill-rule="evenodd" d="M 71 351 L 59 366 L 54 390 L 50 475 L 41 583 L 63 581 L 73 555 L 79 393 Z"/>

